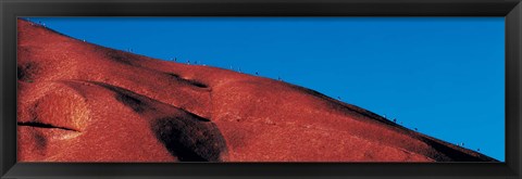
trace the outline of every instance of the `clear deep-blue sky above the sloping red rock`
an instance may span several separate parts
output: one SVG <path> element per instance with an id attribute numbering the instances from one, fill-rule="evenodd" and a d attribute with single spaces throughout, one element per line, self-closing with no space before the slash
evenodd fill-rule
<path id="1" fill-rule="evenodd" d="M 32 17 L 65 35 L 314 89 L 505 161 L 504 17 Z"/>

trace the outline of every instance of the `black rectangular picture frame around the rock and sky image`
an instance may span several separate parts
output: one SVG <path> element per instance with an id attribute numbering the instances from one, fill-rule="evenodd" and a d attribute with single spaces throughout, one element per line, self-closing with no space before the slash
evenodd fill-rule
<path id="1" fill-rule="evenodd" d="M 521 178 L 520 0 L 0 0 L 1 178 Z M 504 16 L 505 163 L 16 163 L 18 16 Z"/>

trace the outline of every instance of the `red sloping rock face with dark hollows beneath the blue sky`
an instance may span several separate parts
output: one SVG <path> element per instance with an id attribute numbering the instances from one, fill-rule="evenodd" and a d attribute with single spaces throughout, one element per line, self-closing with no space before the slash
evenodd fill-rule
<path id="1" fill-rule="evenodd" d="M 17 28 L 21 162 L 495 161 L 302 87 Z"/>

